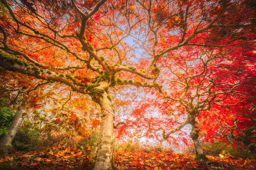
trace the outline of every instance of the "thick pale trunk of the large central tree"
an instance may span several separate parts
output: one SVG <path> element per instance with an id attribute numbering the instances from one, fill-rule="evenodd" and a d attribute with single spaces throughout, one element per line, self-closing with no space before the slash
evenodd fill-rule
<path id="1" fill-rule="evenodd" d="M 99 143 L 94 170 L 113 170 L 113 124 L 114 110 L 110 96 L 106 92 L 97 100 L 102 108 Z"/>

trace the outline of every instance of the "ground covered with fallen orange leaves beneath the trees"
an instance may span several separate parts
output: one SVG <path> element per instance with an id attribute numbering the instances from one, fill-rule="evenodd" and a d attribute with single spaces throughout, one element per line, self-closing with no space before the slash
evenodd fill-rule
<path id="1" fill-rule="evenodd" d="M 115 150 L 116 170 L 255 170 L 256 160 L 234 159 L 231 155 L 207 156 L 209 161 L 194 161 L 193 155 L 146 153 Z M 94 156 L 71 148 L 53 147 L 34 152 L 15 152 L 0 156 L 0 170 L 90 170 Z"/>

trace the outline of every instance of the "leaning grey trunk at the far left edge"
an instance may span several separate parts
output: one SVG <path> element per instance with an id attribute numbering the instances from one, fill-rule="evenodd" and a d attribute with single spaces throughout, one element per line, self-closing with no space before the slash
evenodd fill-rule
<path id="1" fill-rule="evenodd" d="M 26 115 L 26 112 L 27 110 L 23 106 L 20 106 L 18 108 L 15 116 L 13 117 L 12 123 L 8 128 L 10 132 L 8 132 L 8 135 L 4 134 L 3 137 L 0 139 L 0 152 L 9 152 L 8 146 L 12 143 L 12 140 L 18 132 L 20 125 Z"/>

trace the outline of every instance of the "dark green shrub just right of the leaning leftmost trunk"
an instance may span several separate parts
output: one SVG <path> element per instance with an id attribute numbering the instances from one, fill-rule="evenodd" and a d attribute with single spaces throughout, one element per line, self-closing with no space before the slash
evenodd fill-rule
<path id="1" fill-rule="evenodd" d="M 32 151 L 38 148 L 40 142 L 40 129 L 29 121 L 24 121 L 15 138 L 12 147 L 19 151 Z"/>

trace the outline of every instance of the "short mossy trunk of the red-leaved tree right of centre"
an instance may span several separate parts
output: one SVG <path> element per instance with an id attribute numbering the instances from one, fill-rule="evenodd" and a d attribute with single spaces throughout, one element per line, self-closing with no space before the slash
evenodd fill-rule
<path id="1" fill-rule="evenodd" d="M 199 161 L 201 159 L 203 160 L 208 160 L 207 157 L 204 154 L 204 150 L 203 147 L 201 146 L 201 143 L 198 139 L 199 137 L 199 128 L 197 126 L 197 122 L 195 122 L 194 124 L 192 124 L 192 129 L 191 129 L 191 133 L 190 136 L 193 140 L 193 143 L 195 145 L 195 160 Z"/>

